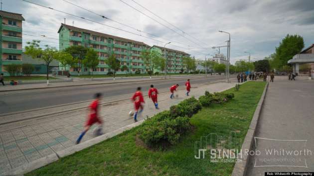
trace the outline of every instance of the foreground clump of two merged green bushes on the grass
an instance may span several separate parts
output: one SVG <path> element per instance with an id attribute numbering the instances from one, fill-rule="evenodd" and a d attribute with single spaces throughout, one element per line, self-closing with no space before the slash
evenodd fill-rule
<path id="1" fill-rule="evenodd" d="M 160 112 L 147 119 L 139 129 L 139 138 L 148 146 L 175 144 L 190 128 L 189 118 L 201 109 L 194 97 L 183 100 L 170 110 Z"/>

